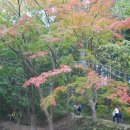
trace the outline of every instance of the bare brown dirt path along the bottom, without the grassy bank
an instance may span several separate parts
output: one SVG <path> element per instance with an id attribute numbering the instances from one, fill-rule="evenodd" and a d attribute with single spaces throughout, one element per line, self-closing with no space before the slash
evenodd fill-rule
<path id="1" fill-rule="evenodd" d="M 80 118 L 85 118 L 85 117 L 71 114 L 71 117 L 64 117 L 60 121 L 55 122 L 54 128 L 55 130 L 67 130 L 66 128 L 68 124 L 70 124 L 71 120 L 80 119 Z M 87 116 L 86 118 L 92 119 L 92 117 L 90 116 Z M 98 121 L 102 122 L 105 125 L 111 124 L 111 125 L 117 126 L 118 128 L 123 127 L 124 130 L 130 129 L 130 125 L 128 124 L 123 124 L 123 123 L 116 124 L 110 120 L 101 119 L 101 118 L 98 118 Z M 30 130 L 30 126 L 26 126 L 26 125 L 17 126 L 14 122 L 11 122 L 11 121 L 0 121 L 0 126 L 4 127 L 4 129 L 0 127 L 0 130 Z M 44 126 L 44 127 L 38 127 L 37 130 L 49 130 L 49 129 L 48 129 L 48 126 Z"/>

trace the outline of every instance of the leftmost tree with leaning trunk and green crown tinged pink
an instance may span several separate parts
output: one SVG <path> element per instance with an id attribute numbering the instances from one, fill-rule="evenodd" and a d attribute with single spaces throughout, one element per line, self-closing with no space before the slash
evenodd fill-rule
<path id="1" fill-rule="evenodd" d="M 9 22 L 9 21 L 8 21 Z M 16 57 L 19 59 L 19 64 L 21 64 L 24 70 L 24 78 L 28 79 L 31 76 L 35 75 L 35 62 L 32 60 L 34 56 L 42 57 L 46 52 L 36 52 L 37 49 L 41 48 L 39 41 L 37 42 L 37 37 L 39 33 L 37 27 L 34 25 L 34 21 L 25 15 L 20 18 L 16 23 L 11 26 L 7 26 L 4 30 L 2 29 L 1 39 L 4 43 L 3 45 L 9 48 Z M 9 39 L 9 40 L 8 40 Z M 34 46 L 37 43 L 37 48 Z M 35 47 L 35 48 L 34 48 Z M 33 50 L 33 52 L 32 52 Z M 36 54 L 36 55 L 34 55 Z M 30 120 L 31 120 L 31 129 L 36 129 L 36 115 L 35 115 L 35 104 L 34 104 L 34 89 L 29 88 L 28 91 L 29 97 L 29 108 L 30 108 Z"/>

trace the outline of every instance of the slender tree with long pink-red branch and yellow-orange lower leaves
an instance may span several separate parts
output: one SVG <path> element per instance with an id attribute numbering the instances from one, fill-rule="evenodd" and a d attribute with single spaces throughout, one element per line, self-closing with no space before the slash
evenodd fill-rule
<path id="1" fill-rule="evenodd" d="M 58 75 L 58 74 L 61 74 L 61 73 L 68 73 L 68 72 L 71 72 L 71 68 L 69 68 L 66 65 L 62 65 L 60 69 L 55 69 L 55 70 L 49 71 L 49 72 L 43 72 L 38 77 L 34 77 L 34 78 L 29 79 L 27 82 L 25 82 L 23 84 L 23 87 L 28 87 L 32 84 L 35 87 L 39 88 L 40 85 L 42 83 L 45 83 L 49 77 L 53 77 L 55 75 Z M 62 89 L 62 87 L 56 88 L 54 90 L 54 92 L 57 92 L 59 90 L 64 92 L 64 89 Z M 54 93 L 54 92 L 52 92 L 52 93 Z M 40 94 L 40 98 L 41 98 L 42 110 L 44 111 L 44 113 L 47 117 L 50 130 L 53 130 L 54 128 L 53 128 L 53 124 L 52 124 L 52 117 L 51 117 L 51 114 L 48 112 L 48 106 L 50 106 L 50 105 L 55 106 L 56 105 L 55 94 L 50 94 L 48 96 L 48 98 L 44 99 L 44 97 L 42 95 L 42 91 L 41 91 L 40 88 L 39 88 L 39 94 Z M 49 104 L 48 104 L 48 102 L 49 102 Z"/>

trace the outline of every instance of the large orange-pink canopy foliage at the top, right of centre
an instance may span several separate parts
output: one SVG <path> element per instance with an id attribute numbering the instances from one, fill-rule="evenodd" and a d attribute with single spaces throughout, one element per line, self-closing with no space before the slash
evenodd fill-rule
<path id="1" fill-rule="evenodd" d="M 82 33 L 82 30 L 92 30 L 101 33 L 113 22 L 110 8 L 114 0 L 70 0 L 63 4 L 61 17 L 64 17 L 65 27 Z M 79 48 L 81 47 L 78 44 Z"/>

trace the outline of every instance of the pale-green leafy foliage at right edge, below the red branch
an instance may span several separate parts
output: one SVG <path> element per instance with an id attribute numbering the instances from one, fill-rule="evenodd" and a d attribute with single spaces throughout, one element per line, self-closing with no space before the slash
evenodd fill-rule
<path id="1" fill-rule="evenodd" d="M 107 67 L 111 66 L 116 70 L 129 73 L 129 42 L 123 41 L 122 45 L 117 44 L 104 45 L 98 50 L 98 60 Z M 116 75 L 115 70 L 112 70 Z"/>

